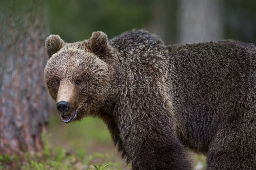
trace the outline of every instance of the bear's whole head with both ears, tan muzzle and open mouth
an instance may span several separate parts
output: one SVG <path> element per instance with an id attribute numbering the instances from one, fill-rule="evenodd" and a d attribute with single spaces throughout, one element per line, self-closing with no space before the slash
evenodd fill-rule
<path id="1" fill-rule="evenodd" d="M 93 32 L 90 39 L 75 43 L 50 35 L 45 48 L 49 60 L 44 81 L 63 122 L 80 120 L 100 110 L 108 98 L 103 89 L 113 78 L 113 54 L 107 35 Z"/>

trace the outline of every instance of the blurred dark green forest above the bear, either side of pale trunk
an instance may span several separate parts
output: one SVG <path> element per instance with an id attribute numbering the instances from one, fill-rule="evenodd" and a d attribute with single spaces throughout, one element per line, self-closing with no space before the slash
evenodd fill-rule
<path id="1" fill-rule="evenodd" d="M 151 25 L 157 23 L 155 20 L 160 20 L 160 25 L 168 31 L 169 39 L 162 37 L 165 43 L 177 43 L 177 15 L 182 12 L 178 11 L 178 3 L 178 0 L 48 1 L 50 33 L 74 42 L 88 39 L 92 32 L 100 30 L 111 39 L 134 28 L 151 31 Z M 223 39 L 256 43 L 255 1 L 223 0 L 220 5 Z"/>

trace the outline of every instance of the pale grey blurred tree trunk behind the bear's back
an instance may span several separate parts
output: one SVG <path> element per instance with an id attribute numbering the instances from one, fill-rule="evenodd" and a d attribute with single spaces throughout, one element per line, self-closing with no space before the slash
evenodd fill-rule
<path id="1" fill-rule="evenodd" d="M 223 38 L 223 9 L 220 0 L 180 0 L 179 43 L 216 41 Z"/>

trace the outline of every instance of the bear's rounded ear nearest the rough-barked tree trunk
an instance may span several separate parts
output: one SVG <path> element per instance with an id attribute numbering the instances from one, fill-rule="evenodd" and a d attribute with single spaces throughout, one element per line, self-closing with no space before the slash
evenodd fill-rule
<path id="1" fill-rule="evenodd" d="M 63 46 L 65 42 L 60 38 L 59 35 L 50 35 L 45 40 L 45 49 L 49 58 L 57 53 Z"/>

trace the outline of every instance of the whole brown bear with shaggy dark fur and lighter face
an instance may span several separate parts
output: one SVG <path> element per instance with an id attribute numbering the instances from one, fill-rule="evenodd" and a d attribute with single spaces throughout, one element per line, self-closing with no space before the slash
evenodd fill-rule
<path id="1" fill-rule="evenodd" d="M 165 46 L 143 30 L 45 42 L 46 87 L 64 122 L 100 117 L 132 169 L 256 169 L 256 46 Z"/>

